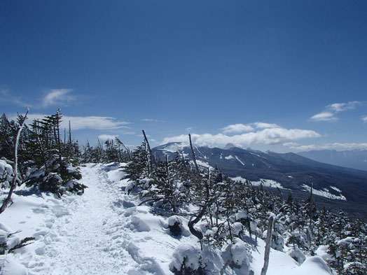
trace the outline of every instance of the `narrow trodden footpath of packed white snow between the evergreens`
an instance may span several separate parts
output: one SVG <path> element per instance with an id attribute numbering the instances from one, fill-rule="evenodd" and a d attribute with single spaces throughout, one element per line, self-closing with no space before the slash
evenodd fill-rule
<path id="1" fill-rule="evenodd" d="M 69 215 L 53 222 L 60 241 L 46 246 L 52 274 L 125 274 L 130 255 L 116 246 L 118 213 L 111 207 L 121 195 L 102 169 L 81 167 L 81 183 L 88 186 L 81 199 L 70 199 Z M 62 213 L 61 213 L 62 214 Z M 111 223 L 113 222 L 113 223 Z M 113 245 L 115 244 L 115 245 Z"/>

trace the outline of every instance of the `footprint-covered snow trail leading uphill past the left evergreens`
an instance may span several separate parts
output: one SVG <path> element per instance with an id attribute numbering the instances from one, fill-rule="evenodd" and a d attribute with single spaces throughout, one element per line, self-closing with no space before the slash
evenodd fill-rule
<path id="1" fill-rule="evenodd" d="M 129 253 L 124 243 L 129 239 L 127 218 L 119 216 L 113 207 L 123 192 L 116 192 L 116 186 L 100 168 L 81 167 L 81 172 L 81 183 L 88 188 L 82 196 L 63 198 L 71 211 L 62 204 L 51 209 L 50 216 L 55 218 L 48 219 L 46 227 L 50 228 L 38 233 L 44 247 L 36 250 L 42 256 L 40 262 L 33 259 L 28 263 L 31 274 L 135 274 L 132 270 L 139 269 L 137 258 L 130 255 L 133 252 Z M 43 232 L 48 233 L 42 236 Z M 46 269 L 44 262 L 49 263 Z"/>

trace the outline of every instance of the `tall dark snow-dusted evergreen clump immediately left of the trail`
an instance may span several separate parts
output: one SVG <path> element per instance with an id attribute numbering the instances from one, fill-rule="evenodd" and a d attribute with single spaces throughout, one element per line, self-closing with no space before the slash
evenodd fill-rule
<path id="1" fill-rule="evenodd" d="M 62 115 L 57 111 L 43 120 L 34 120 L 31 125 L 29 160 L 25 183 L 42 191 L 50 191 L 61 196 L 65 191 L 83 192 L 85 185 L 77 182 L 81 179 L 78 169 L 76 145 L 62 143 L 60 122 Z"/>

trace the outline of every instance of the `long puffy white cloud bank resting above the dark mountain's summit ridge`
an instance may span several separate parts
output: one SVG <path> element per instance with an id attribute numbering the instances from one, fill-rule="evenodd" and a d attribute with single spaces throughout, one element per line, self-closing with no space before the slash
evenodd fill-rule
<path id="1" fill-rule="evenodd" d="M 268 128 L 258 132 L 249 132 L 227 136 L 226 134 L 192 134 L 193 143 L 198 146 L 224 147 L 228 143 L 235 146 L 246 147 L 252 143 L 277 144 L 297 139 L 316 138 L 321 136 L 317 132 L 305 129 L 284 129 L 284 128 Z M 174 141 L 188 141 L 188 136 L 182 134 L 180 136 L 166 137 L 162 144 Z"/>

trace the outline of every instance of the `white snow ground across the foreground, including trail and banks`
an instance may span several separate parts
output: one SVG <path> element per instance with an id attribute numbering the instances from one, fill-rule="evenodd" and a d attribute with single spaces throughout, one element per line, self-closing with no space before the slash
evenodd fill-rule
<path id="1" fill-rule="evenodd" d="M 81 196 L 66 194 L 59 199 L 44 193 L 28 195 L 27 190 L 24 195 L 13 195 L 13 204 L 0 215 L 0 229 L 22 230 L 15 234 L 18 239 L 36 240 L 14 254 L 0 255 L 1 275 L 171 275 L 169 265 L 178 266 L 180 251 L 191 251 L 193 257 L 200 251 L 198 239 L 188 230 L 181 237 L 169 234 L 167 225 L 174 218 L 155 215 L 150 207 L 137 206 L 133 195 L 125 195 L 123 189 L 129 182 L 120 180 L 120 165 L 88 164 L 81 167 L 81 173 L 81 183 L 88 186 Z M 186 228 L 188 220 L 179 219 Z M 245 259 L 247 247 L 251 257 Z M 247 275 L 250 269 L 260 274 L 263 240 L 258 239 L 255 247 L 239 239 L 230 251 L 234 262 L 247 264 L 227 268 L 224 274 Z M 220 251 L 204 247 L 202 253 L 212 267 L 223 267 Z M 193 257 L 188 263 L 196 265 Z M 330 274 L 320 256 L 299 266 L 286 253 L 271 249 L 267 275 L 306 272 Z"/>

